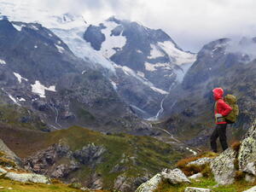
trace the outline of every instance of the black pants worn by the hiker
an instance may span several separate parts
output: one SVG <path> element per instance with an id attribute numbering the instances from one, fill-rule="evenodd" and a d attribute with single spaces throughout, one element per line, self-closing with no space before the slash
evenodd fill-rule
<path id="1" fill-rule="evenodd" d="M 228 143 L 227 143 L 227 137 L 226 137 L 226 128 L 227 124 L 218 124 L 215 127 L 215 130 L 212 132 L 211 136 L 211 147 L 212 151 L 217 153 L 217 139 L 219 137 L 219 142 L 221 144 L 221 147 L 223 150 L 228 148 Z"/>

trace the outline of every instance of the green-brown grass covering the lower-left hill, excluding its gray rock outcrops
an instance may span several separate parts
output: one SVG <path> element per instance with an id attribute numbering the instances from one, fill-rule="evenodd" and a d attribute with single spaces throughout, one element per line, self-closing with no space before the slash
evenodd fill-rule
<path id="1" fill-rule="evenodd" d="M 183 154 L 177 152 L 171 145 L 161 143 L 152 137 L 135 137 L 127 134 L 104 135 L 79 126 L 49 133 L 6 125 L 2 127 L 0 125 L 0 128 L 0 138 L 21 158 L 59 143 L 60 140 L 67 143 L 73 151 L 89 143 L 107 148 L 102 164 L 96 166 L 95 170 L 82 166 L 78 172 L 73 172 L 70 176 L 79 177 L 82 182 L 90 172 L 96 171 L 102 175 L 106 189 L 111 189 L 114 179 L 122 173 L 128 177 L 143 177 L 146 172 L 155 174 L 162 168 L 172 168 L 177 160 L 183 158 Z M 121 160 L 124 162 L 120 163 Z M 127 171 L 111 173 L 110 171 L 117 164 L 125 166 Z"/>

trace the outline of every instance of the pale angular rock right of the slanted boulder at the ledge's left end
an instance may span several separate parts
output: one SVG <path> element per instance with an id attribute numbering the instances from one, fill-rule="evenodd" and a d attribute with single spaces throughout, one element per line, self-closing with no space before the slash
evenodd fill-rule
<path id="1" fill-rule="evenodd" d="M 161 172 L 161 177 L 172 184 L 190 183 L 189 178 L 179 169 L 165 169 Z"/>

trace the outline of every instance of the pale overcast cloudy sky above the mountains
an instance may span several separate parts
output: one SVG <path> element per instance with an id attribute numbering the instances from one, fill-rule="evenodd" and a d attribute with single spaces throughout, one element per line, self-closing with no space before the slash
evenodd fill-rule
<path id="1" fill-rule="evenodd" d="M 31 0 L 33 1 L 33 0 Z M 217 38 L 256 36 L 255 0 L 40 0 L 40 6 L 84 15 L 95 23 L 109 16 L 161 28 L 183 49 L 198 51 Z"/>

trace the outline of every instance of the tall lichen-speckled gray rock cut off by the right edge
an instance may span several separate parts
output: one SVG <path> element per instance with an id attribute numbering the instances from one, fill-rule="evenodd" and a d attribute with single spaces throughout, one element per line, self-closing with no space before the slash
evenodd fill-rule
<path id="1" fill-rule="evenodd" d="M 256 122 L 256 121 L 255 121 Z M 242 141 L 238 154 L 239 169 L 256 176 L 256 124 L 255 122 Z"/>

